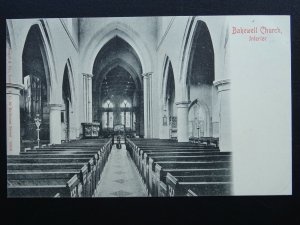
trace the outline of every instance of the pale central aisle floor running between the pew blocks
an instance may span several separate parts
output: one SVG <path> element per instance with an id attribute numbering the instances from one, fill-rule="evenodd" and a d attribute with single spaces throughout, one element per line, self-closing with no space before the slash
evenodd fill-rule
<path id="1" fill-rule="evenodd" d="M 129 153 L 122 144 L 121 149 L 113 145 L 107 164 L 101 175 L 95 197 L 147 197 Z"/>

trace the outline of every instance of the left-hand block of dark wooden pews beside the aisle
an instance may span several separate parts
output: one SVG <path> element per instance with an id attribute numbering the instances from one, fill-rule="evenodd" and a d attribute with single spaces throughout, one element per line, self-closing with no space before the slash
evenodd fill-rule
<path id="1" fill-rule="evenodd" d="M 8 195 L 90 197 L 96 188 L 98 181 L 96 178 L 100 174 L 98 168 L 103 167 L 111 150 L 111 142 L 98 150 L 97 147 L 80 149 L 77 146 L 59 149 L 59 146 L 56 146 L 31 150 L 20 157 L 9 156 Z M 100 159 L 103 163 L 99 163 Z M 73 177 L 67 177 L 71 174 Z M 42 177 L 43 179 L 38 179 Z"/>

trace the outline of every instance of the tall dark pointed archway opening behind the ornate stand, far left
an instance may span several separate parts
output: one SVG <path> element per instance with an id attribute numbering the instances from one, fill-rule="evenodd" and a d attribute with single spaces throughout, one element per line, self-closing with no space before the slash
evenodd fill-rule
<path id="1" fill-rule="evenodd" d="M 42 141 L 49 142 L 50 75 L 45 46 L 39 25 L 33 25 L 26 37 L 22 53 L 24 89 L 20 98 L 20 125 L 22 142 L 37 139 L 35 118 L 41 119 Z"/>

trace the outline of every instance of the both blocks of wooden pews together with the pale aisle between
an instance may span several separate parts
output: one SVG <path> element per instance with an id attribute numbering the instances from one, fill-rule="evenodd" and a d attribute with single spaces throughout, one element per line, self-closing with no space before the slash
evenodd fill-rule
<path id="1" fill-rule="evenodd" d="M 8 157 L 8 196 L 230 195 L 231 153 L 203 141 L 82 139 L 30 149 Z"/>

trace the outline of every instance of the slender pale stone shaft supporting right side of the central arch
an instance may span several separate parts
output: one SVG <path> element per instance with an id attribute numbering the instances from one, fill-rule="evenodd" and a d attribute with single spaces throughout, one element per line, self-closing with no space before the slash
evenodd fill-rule
<path id="1" fill-rule="evenodd" d="M 144 129 L 145 138 L 152 138 L 152 72 L 142 74 L 144 85 Z"/>

